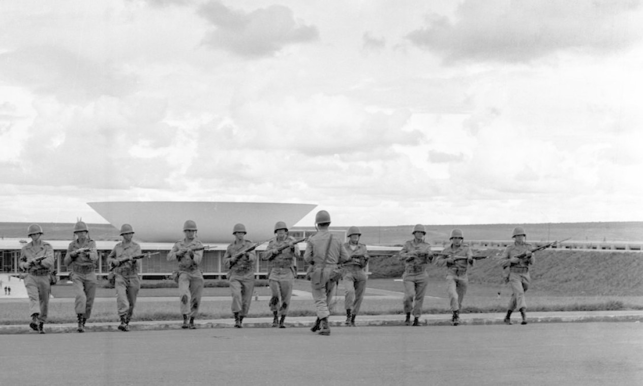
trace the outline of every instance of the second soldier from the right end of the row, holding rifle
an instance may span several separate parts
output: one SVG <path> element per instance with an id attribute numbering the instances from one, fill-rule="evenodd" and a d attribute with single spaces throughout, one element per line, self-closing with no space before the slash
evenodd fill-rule
<path id="1" fill-rule="evenodd" d="M 463 238 L 460 229 L 453 229 L 449 238 L 451 245 L 442 250 L 435 261 L 436 265 L 447 267 L 446 283 L 453 313 L 451 317 L 453 326 L 460 324 L 460 308 L 469 284 L 467 268 L 473 265 L 473 252 L 468 245 L 462 244 Z"/>

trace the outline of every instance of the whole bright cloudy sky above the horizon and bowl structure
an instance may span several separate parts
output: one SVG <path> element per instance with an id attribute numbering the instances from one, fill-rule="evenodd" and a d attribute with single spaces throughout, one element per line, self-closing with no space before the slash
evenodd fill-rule
<path id="1" fill-rule="evenodd" d="M 640 221 L 641 20 L 631 0 L 5 0 L 0 221 L 105 222 L 104 200 Z"/>

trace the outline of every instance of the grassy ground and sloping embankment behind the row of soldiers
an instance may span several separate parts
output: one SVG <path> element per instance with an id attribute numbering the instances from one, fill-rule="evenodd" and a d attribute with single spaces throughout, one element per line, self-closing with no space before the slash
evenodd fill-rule
<path id="1" fill-rule="evenodd" d="M 532 286 L 527 292 L 527 304 L 530 311 L 576 311 L 576 310 L 643 310 L 643 256 L 637 252 L 597 252 L 578 250 L 546 250 L 536 256 L 536 265 L 532 268 Z M 402 313 L 403 285 L 394 278 L 399 278 L 403 270 L 397 259 L 379 259 L 370 266 L 374 273 L 368 281 L 370 288 L 397 292 L 393 299 L 365 299 L 363 314 L 399 314 Z M 501 286 L 500 268 L 497 261 L 485 259 L 477 261 L 469 276 L 469 290 L 464 301 L 463 313 L 505 311 L 511 295 L 511 289 Z M 147 281 L 146 286 L 149 285 Z M 141 288 L 140 297 L 176 297 L 177 290 L 173 282 L 165 282 L 166 288 Z M 204 296 L 230 296 L 230 290 L 217 287 L 217 283 L 204 288 Z M 225 285 L 222 283 L 222 285 Z M 73 289 L 64 283 L 53 286 L 55 297 L 73 297 Z M 310 290 L 308 281 L 298 280 L 294 286 L 297 290 Z M 257 286 L 259 296 L 269 295 L 269 288 Z M 498 291 L 502 295 L 498 296 Z M 368 293 L 367 293 L 368 294 Z M 114 297 L 114 290 L 98 288 L 98 297 Z M 340 285 L 338 295 L 343 295 Z M 424 301 L 424 313 L 448 313 L 449 304 L 444 285 L 444 268 L 430 268 L 430 283 L 427 288 L 428 298 Z M 294 298 L 296 299 L 296 298 Z M 2 324 L 23 324 L 28 319 L 28 306 L 25 302 L 7 302 L 2 304 Z M 334 313 L 343 314 L 343 301 L 340 299 L 334 306 Z M 268 317 L 267 301 L 255 301 L 249 317 Z M 311 300 L 293 301 L 291 316 L 314 317 L 314 304 Z M 204 301 L 201 306 L 201 319 L 219 319 L 231 317 L 230 301 Z M 178 320 L 178 299 L 171 301 L 141 301 L 136 305 L 134 320 Z M 116 317 L 116 300 L 96 302 L 91 321 L 114 322 Z M 74 322 L 73 302 L 50 303 L 50 322 Z"/>

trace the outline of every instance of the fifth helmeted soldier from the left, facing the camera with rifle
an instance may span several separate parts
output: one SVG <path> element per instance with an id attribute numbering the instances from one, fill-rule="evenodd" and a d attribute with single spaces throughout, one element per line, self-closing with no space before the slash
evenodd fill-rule
<path id="1" fill-rule="evenodd" d="M 230 291 L 232 293 L 232 313 L 235 327 L 243 327 L 243 319 L 248 315 L 252 292 L 255 290 L 255 262 L 257 255 L 249 250 L 253 243 L 245 240 L 246 226 L 236 224 L 232 229 L 235 241 L 228 245 L 223 256 L 224 267 L 228 270 Z"/>

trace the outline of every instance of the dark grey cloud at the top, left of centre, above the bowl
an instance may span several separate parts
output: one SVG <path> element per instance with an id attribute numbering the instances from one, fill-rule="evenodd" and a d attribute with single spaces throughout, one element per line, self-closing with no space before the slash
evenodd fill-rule
<path id="1" fill-rule="evenodd" d="M 289 44 L 311 42 L 319 37 L 315 26 L 297 21 L 293 11 L 281 5 L 246 13 L 210 1 L 199 8 L 198 14 L 214 27 L 203 43 L 241 57 L 269 57 Z"/>

